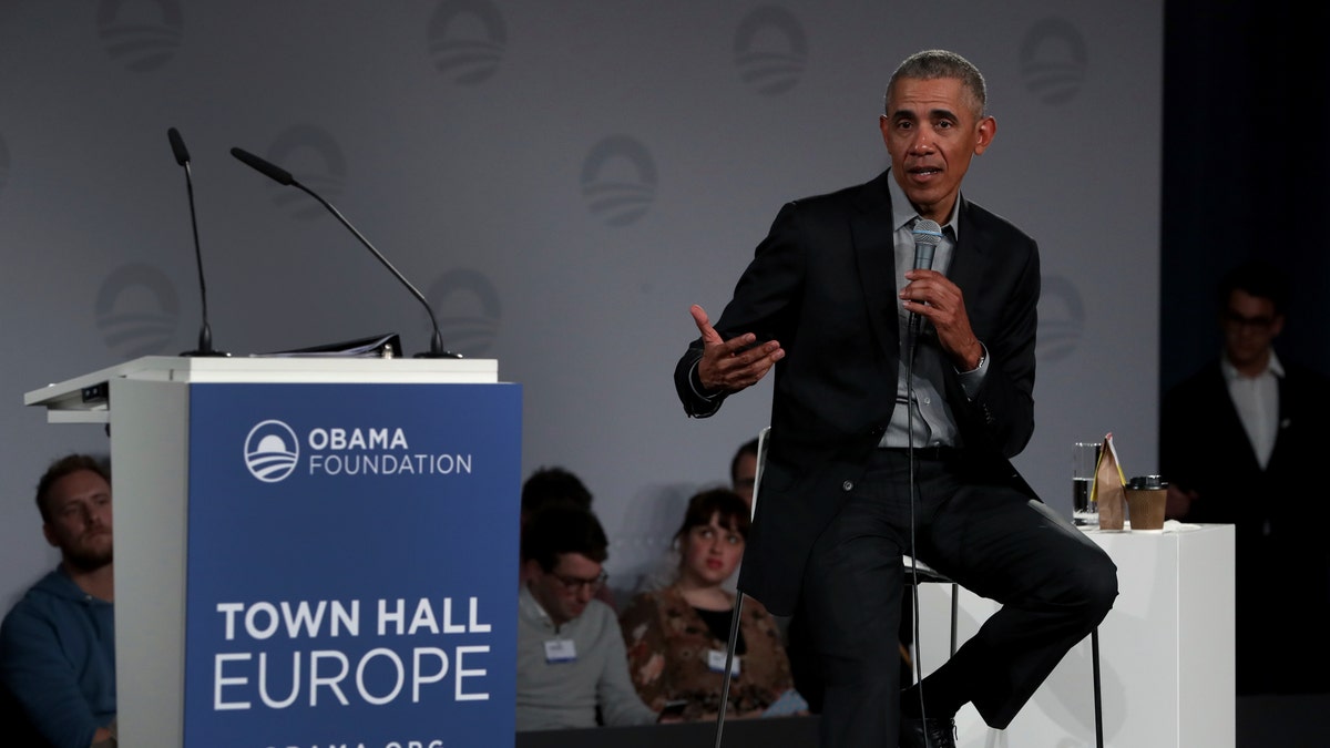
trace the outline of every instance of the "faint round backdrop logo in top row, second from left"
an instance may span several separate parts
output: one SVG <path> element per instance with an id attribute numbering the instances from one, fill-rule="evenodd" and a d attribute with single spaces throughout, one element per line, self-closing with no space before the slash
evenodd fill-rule
<path id="1" fill-rule="evenodd" d="M 444 0 L 430 19 L 426 48 L 454 83 L 476 85 L 499 69 L 507 43 L 508 27 L 493 3 Z"/>

